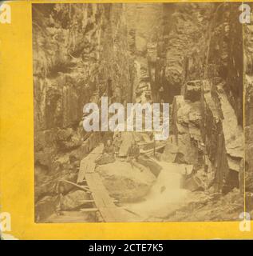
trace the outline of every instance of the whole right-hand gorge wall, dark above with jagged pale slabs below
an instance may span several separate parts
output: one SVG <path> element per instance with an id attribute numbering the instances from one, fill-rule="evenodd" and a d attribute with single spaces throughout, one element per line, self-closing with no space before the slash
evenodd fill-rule
<path id="1" fill-rule="evenodd" d="M 190 22 L 194 28 L 203 20 L 202 26 L 192 31 L 198 35 L 195 41 L 189 32 L 174 34 L 171 30 L 169 33 L 172 47 L 175 47 L 175 40 L 178 47 L 184 48 L 179 48 L 178 52 L 188 57 L 183 62 L 172 48 L 177 58 L 170 64 L 173 54 L 169 53 L 166 66 L 167 70 L 171 70 L 171 65 L 172 69 L 181 70 L 177 72 L 178 83 L 174 80 L 170 84 L 180 86 L 180 93 L 184 95 L 173 95 L 172 132 L 178 146 L 176 162 L 180 159 L 193 164 L 194 170 L 203 168 L 211 178 L 208 186 L 226 192 L 239 187 L 243 172 L 242 25 L 235 18 L 239 16 L 238 4 L 210 4 L 205 11 L 200 6 L 175 11 L 177 26 L 183 22 L 186 27 Z M 188 16 L 183 14 L 190 11 L 200 14 L 185 18 Z M 184 17 L 183 21 L 180 17 Z M 185 40 L 188 43 L 180 41 L 180 36 L 188 36 Z M 240 186 L 243 186 L 242 180 Z"/>

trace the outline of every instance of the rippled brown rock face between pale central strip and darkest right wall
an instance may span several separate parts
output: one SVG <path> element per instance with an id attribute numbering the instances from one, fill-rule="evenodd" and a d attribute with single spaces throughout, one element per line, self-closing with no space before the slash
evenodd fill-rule
<path id="1" fill-rule="evenodd" d="M 156 86 L 164 88 L 171 102 L 180 94 L 184 82 L 199 79 L 203 72 L 207 30 L 213 4 L 164 5 L 163 44 Z M 169 15 L 166 15 L 166 13 Z"/>

